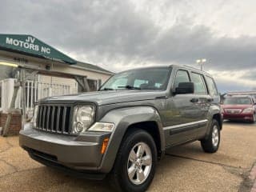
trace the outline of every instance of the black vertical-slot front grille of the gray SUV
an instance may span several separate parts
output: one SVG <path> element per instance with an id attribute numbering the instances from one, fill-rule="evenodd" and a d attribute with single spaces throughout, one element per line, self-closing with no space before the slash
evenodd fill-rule
<path id="1" fill-rule="evenodd" d="M 71 106 L 38 106 L 37 129 L 70 134 Z"/>

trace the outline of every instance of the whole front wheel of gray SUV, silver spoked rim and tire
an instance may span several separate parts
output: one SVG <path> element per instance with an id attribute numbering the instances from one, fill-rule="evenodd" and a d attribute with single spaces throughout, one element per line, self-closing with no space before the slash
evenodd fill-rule
<path id="1" fill-rule="evenodd" d="M 157 150 L 150 134 L 144 130 L 126 134 L 110 174 L 114 189 L 146 191 L 154 178 L 156 162 Z"/>

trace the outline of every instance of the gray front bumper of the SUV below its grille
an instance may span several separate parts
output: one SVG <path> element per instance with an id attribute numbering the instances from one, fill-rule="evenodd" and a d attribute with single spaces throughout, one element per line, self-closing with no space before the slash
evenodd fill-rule
<path id="1" fill-rule="evenodd" d="M 110 133 L 88 132 L 78 136 L 50 134 L 31 125 L 20 131 L 19 144 L 38 162 L 40 159 L 72 170 L 101 172 L 102 142 Z"/>

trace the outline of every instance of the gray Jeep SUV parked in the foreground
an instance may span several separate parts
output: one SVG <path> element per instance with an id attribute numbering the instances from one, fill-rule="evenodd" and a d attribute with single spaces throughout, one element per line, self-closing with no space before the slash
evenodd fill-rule
<path id="1" fill-rule="evenodd" d="M 42 99 L 19 142 L 46 166 L 145 191 L 171 146 L 199 140 L 206 153 L 218 150 L 219 101 L 214 79 L 201 70 L 127 70 L 96 92 Z"/>

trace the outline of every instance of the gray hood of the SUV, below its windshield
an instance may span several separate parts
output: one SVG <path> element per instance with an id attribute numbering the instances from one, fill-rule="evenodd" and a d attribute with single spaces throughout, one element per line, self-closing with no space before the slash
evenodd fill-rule
<path id="1" fill-rule="evenodd" d="M 98 106 L 119 103 L 150 100 L 164 97 L 166 94 L 160 90 L 102 90 L 81 94 L 71 94 L 44 98 L 39 103 L 75 103 L 93 102 Z"/>

